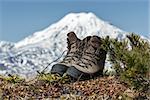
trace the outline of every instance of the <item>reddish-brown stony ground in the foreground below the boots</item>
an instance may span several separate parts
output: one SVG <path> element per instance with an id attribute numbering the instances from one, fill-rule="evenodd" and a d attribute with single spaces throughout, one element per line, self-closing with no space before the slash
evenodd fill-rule
<path id="1" fill-rule="evenodd" d="M 136 92 L 114 76 L 73 83 L 16 80 L 0 78 L 0 99 L 132 100 L 137 96 Z"/>

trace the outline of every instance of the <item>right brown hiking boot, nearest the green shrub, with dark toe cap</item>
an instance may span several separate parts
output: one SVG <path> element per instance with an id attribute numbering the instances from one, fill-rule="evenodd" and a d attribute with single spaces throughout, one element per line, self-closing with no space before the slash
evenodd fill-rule
<path id="1" fill-rule="evenodd" d="M 98 36 L 88 36 L 82 40 L 82 56 L 76 62 L 72 63 L 73 67 L 68 68 L 67 74 L 78 79 L 81 77 L 102 74 L 106 59 L 106 51 L 100 49 L 101 38 Z M 80 49 L 80 48 L 79 48 Z"/>

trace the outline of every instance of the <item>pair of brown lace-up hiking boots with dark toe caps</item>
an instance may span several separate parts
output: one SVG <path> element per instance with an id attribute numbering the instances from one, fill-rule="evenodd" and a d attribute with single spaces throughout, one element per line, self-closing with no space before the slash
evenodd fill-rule
<path id="1" fill-rule="evenodd" d="M 67 34 L 68 52 L 60 63 L 52 66 L 51 73 L 66 73 L 74 80 L 85 80 L 102 74 L 106 51 L 101 49 L 102 39 L 87 36 L 80 40 L 74 32 Z"/>

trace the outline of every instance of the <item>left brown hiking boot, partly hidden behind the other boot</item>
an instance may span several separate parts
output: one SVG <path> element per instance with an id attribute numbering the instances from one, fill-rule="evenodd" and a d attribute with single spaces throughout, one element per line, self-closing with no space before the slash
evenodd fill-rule
<path id="1" fill-rule="evenodd" d="M 74 32 L 67 34 L 67 44 L 68 52 L 62 62 L 52 66 L 51 73 L 59 73 L 63 75 L 68 67 L 72 66 L 72 61 L 79 58 L 79 44 L 80 39 L 76 36 Z"/>

